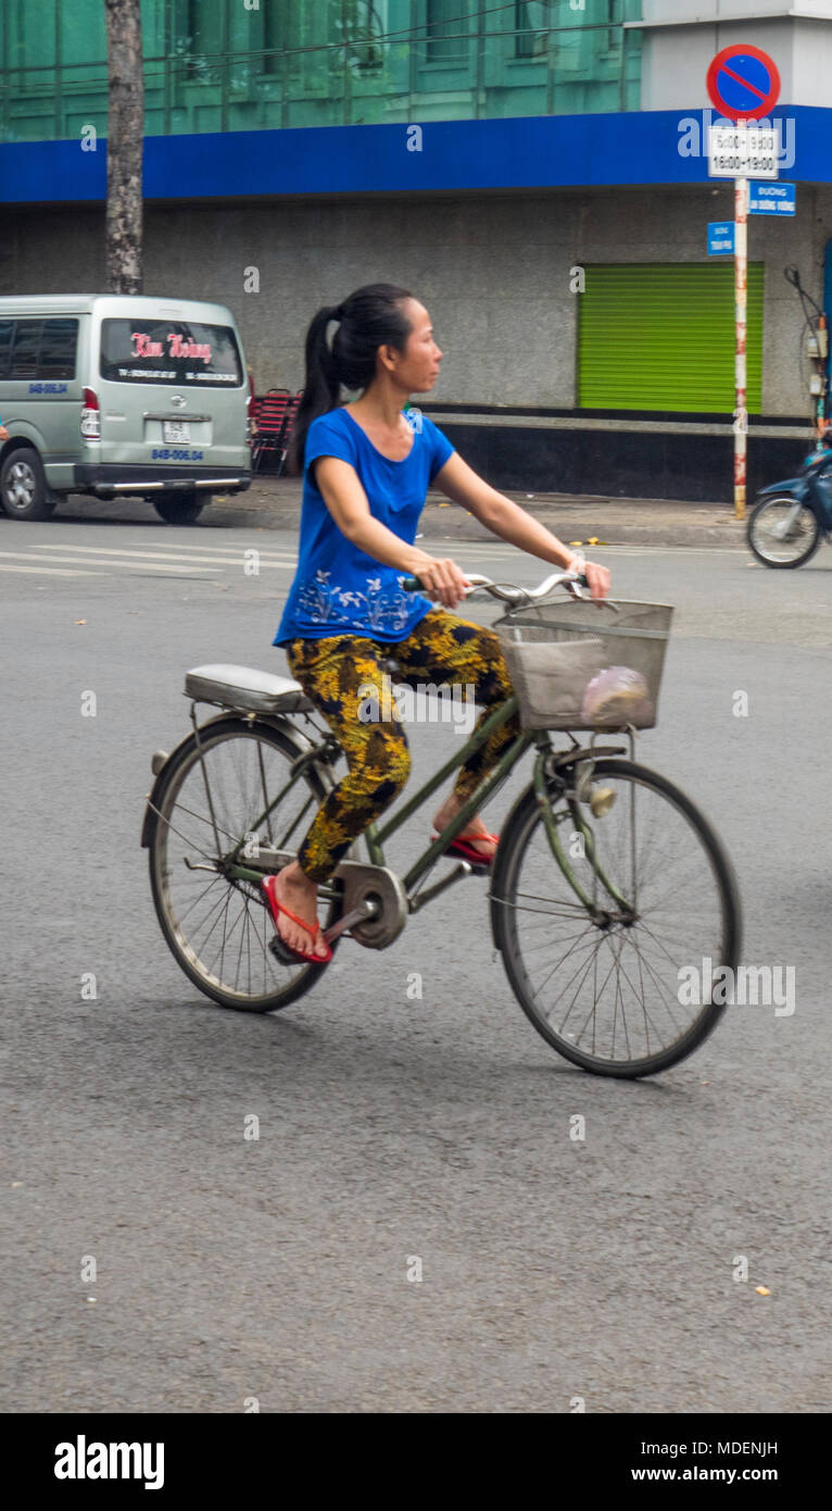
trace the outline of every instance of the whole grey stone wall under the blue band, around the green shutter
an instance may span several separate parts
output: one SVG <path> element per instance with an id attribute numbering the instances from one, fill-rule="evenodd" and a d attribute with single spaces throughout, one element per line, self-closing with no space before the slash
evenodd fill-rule
<path id="1" fill-rule="evenodd" d="M 148 205 L 145 292 L 217 299 L 239 320 L 258 393 L 304 379 L 304 335 L 322 304 L 362 283 L 409 287 L 444 351 L 436 403 L 569 409 L 580 295 L 569 269 L 593 261 L 705 261 L 705 225 L 731 219 L 732 187 L 225 205 Z M 797 189 L 797 216 L 749 222 L 766 261 L 764 413 L 806 414 L 802 316 L 782 269 L 823 290 L 832 190 Z M 104 287 L 104 213 L 6 212 L 0 293 Z M 257 267 L 260 292 L 243 290 Z M 681 314 L 683 311 L 679 311 Z"/>

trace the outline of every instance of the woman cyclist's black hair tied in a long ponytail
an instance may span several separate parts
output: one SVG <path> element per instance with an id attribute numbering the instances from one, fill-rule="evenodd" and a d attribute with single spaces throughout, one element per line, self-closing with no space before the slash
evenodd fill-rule
<path id="1" fill-rule="evenodd" d="M 294 431 L 288 447 L 288 471 L 304 471 L 307 432 L 319 414 L 335 409 L 341 387 L 367 388 L 376 376 L 379 346 L 394 346 L 403 352 L 411 334 L 402 304 L 411 299 L 408 289 L 396 284 L 365 284 L 340 305 L 325 305 L 307 331 L 307 381 L 297 406 Z M 338 320 L 332 348 L 326 328 Z"/>

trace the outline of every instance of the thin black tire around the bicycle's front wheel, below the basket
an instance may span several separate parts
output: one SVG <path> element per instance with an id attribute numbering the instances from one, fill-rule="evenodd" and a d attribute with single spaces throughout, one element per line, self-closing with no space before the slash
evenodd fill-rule
<path id="1" fill-rule="evenodd" d="M 664 777 L 657 772 L 649 771 L 645 766 L 637 765 L 630 760 L 607 759 L 598 760 L 593 768 L 593 783 L 602 778 L 619 778 L 627 780 L 640 787 L 651 790 L 660 799 L 667 799 L 683 816 L 687 825 L 693 830 L 701 848 L 705 852 L 710 873 L 714 879 L 716 898 L 719 899 L 719 922 L 722 937 L 714 941 L 716 949 L 713 959 L 720 966 L 729 967 L 732 972 L 737 969 L 738 950 L 740 950 L 740 934 L 741 934 L 741 913 L 740 913 L 740 898 L 737 890 L 737 882 L 734 878 L 734 870 L 725 849 L 714 834 L 711 825 L 699 813 L 695 804 L 687 798 L 678 787 L 669 783 Z M 574 811 L 574 810 L 571 810 Z M 636 1059 L 604 1059 L 596 1053 L 589 1053 L 575 1044 L 571 1038 L 559 1034 L 553 1029 L 551 1023 L 542 1014 L 539 1005 L 535 999 L 535 988 L 528 976 L 527 963 L 524 963 L 522 950 L 518 940 L 518 914 L 524 911 L 516 905 L 518 881 L 522 870 L 524 857 L 528 852 L 530 843 L 533 840 L 538 825 L 542 827 L 542 814 L 538 802 L 538 795 L 530 786 L 521 793 L 515 808 L 509 817 L 509 822 L 503 827 L 503 839 L 500 840 L 500 848 L 497 852 L 497 866 L 492 879 L 492 917 L 494 917 L 494 935 L 495 943 L 503 955 L 503 964 L 506 975 L 509 978 L 510 987 L 525 1012 L 527 1018 L 532 1021 L 535 1029 L 542 1035 L 542 1038 L 565 1059 L 583 1070 L 593 1074 L 615 1076 L 621 1079 L 637 1079 L 640 1076 L 657 1074 L 658 1071 L 667 1070 L 670 1065 L 678 1064 L 687 1055 L 693 1053 L 695 1049 L 702 1044 L 702 1041 L 713 1032 L 719 1018 L 725 1011 L 725 1003 L 713 1000 L 713 991 L 708 993 L 710 1000 L 704 1002 L 699 1014 L 693 1023 L 687 1027 L 679 1038 L 660 1049 L 658 1052 L 649 1053 L 649 1027 L 646 1029 L 648 1038 L 648 1053 Z M 544 831 L 545 833 L 545 831 Z M 548 852 L 551 860 L 553 873 L 560 878 L 560 872 L 556 866 L 551 851 Z M 575 908 L 571 902 L 571 895 L 566 881 L 562 882 L 566 888 L 568 901 L 563 904 L 565 908 Z M 532 910 L 536 911 L 536 910 Z M 583 919 L 587 914 L 584 911 Z M 575 919 L 581 919 L 581 914 L 575 911 Z M 583 920 L 581 920 L 583 922 Z M 538 925 L 539 926 L 539 925 Z M 636 928 L 633 925 L 633 928 Z M 604 931 L 599 931 L 604 932 Z M 624 929 L 621 931 L 624 934 Z M 607 932 L 607 937 L 612 937 Z M 544 947 L 544 946 L 539 946 Z M 624 946 L 622 946 L 624 949 Z M 571 963 L 574 964 L 574 961 Z M 618 987 L 616 987 L 618 990 Z M 571 1009 L 569 1009 L 571 1011 Z M 618 1003 L 616 1003 L 618 1011 Z M 622 1002 L 622 1018 L 625 1017 L 624 1002 Z M 645 1012 L 645 1020 L 648 1015 Z M 595 1023 L 593 1023 L 595 1035 Z M 615 1047 L 615 1026 L 613 1026 L 613 1047 Z"/>

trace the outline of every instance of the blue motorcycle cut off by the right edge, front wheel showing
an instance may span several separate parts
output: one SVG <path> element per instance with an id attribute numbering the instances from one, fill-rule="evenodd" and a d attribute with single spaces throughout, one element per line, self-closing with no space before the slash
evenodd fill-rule
<path id="1" fill-rule="evenodd" d="M 797 477 L 761 488 L 747 542 L 764 567 L 802 567 L 832 538 L 832 429 L 826 428 Z"/>

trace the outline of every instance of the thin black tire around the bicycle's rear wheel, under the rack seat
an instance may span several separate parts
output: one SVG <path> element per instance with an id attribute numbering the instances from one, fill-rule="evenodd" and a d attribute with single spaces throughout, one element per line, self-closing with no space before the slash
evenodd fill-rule
<path id="1" fill-rule="evenodd" d="M 329 963 L 322 966 L 305 966 L 299 961 L 297 969 L 293 969 L 282 966 L 279 961 L 270 956 L 270 959 L 275 959 L 273 967 L 270 966 L 270 963 L 266 964 L 269 964 L 270 970 L 273 972 L 275 981 L 278 982 L 276 990 L 254 993 L 254 994 L 231 991 L 220 981 L 213 979 L 211 972 L 208 972 L 207 969 L 199 969 L 199 964 L 196 963 L 199 961 L 199 955 L 193 949 L 193 946 L 189 946 L 187 938 L 183 935 L 181 920 L 175 916 L 175 910 L 172 907 L 169 893 L 169 882 L 166 881 L 168 837 L 172 833 L 166 820 L 171 819 L 177 793 L 181 792 L 187 775 L 196 768 L 199 768 L 199 748 L 202 749 L 202 754 L 205 757 L 210 757 L 210 752 L 216 749 L 219 745 L 237 739 L 260 740 L 263 745 L 270 746 L 281 757 L 285 757 L 287 762 L 293 762 L 299 754 L 297 743 L 293 742 L 288 734 L 284 734 L 281 730 L 267 725 L 261 721 L 255 721 L 252 724 L 248 719 L 240 719 L 237 716 L 231 716 L 228 719 L 217 719 L 216 722 L 211 722 L 199 734 L 199 745 L 196 743 L 196 736 L 192 736 L 190 739 L 184 740 L 171 756 L 168 766 L 163 768 L 157 786 L 156 807 L 159 808 L 162 817 L 156 817 L 154 820 L 148 846 L 151 893 L 153 893 L 156 916 L 159 919 L 162 932 L 165 935 L 165 941 L 180 969 L 193 982 L 193 985 L 199 988 L 199 991 L 205 993 L 205 996 L 208 997 L 213 997 L 213 1000 L 219 1002 L 220 1006 L 233 1008 L 234 1011 L 239 1012 L 275 1012 L 279 1011 L 281 1008 L 287 1008 L 291 1002 L 296 1002 L 307 991 L 310 991 L 320 979 L 322 972 L 329 969 Z M 326 768 L 316 769 L 314 766 L 310 765 L 305 768 L 304 777 L 300 778 L 300 783 L 305 783 L 311 796 L 314 796 L 319 804 L 323 802 L 323 799 L 326 798 L 326 793 L 329 790 L 328 783 L 334 784 L 335 781 L 335 775 L 331 771 L 331 768 L 328 778 L 322 777 L 322 771 L 326 771 Z M 177 828 L 180 828 L 178 823 Z M 302 833 L 305 833 L 305 830 Z M 186 839 L 190 843 L 190 837 Z M 234 887 L 236 884 L 226 882 L 226 885 Z M 263 907 L 263 919 L 264 919 L 263 941 L 266 953 L 267 940 L 272 937 L 273 931 L 272 916 L 267 908 L 266 899 L 264 898 L 261 899 L 258 896 L 254 884 L 246 884 L 246 885 L 249 887 L 249 891 L 242 895 L 248 896 L 251 902 L 257 901 Z M 240 887 L 236 887 L 236 890 L 242 891 Z M 323 928 L 325 929 L 331 928 L 331 925 L 335 923 L 341 916 L 341 911 L 343 908 L 340 898 L 332 899 L 332 902 L 329 904 Z M 246 925 L 243 925 L 243 928 L 246 928 Z M 243 932 L 243 929 L 240 932 Z M 338 943 L 340 940 L 332 941 L 331 946 L 332 953 L 335 953 Z M 284 979 L 281 981 L 281 978 Z"/>

